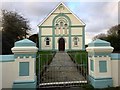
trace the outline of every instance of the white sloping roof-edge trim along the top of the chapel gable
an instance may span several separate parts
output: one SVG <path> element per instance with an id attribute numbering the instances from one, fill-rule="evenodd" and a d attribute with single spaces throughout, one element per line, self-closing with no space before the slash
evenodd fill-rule
<path id="1" fill-rule="evenodd" d="M 48 14 L 48 16 L 46 17 L 46 18 L 44 18 L 43 20 L 42 20 L 42 22 L 40 22 L 40 24 L 38 24 L 38 26 L 41 26 L 51 15 L 52 15 L 52 13 L 54 13 L 55 12 L 55 10 L 60 6 L 60 5 L 63 5 L 65 8 L 67 8 L 67 10 L 68 11 L 70 11 L 70 13 L 72 13 L 81 23 L 82 23 L 82 25 L 86 25 L 79 17 L 77 17 L 63 2 L 60 2 L 57 6 L 56 6 L 56 8 L 54 8 L 53 9 L 53 11 L 51 12 L 51 13 L 49 13 Z"/>

